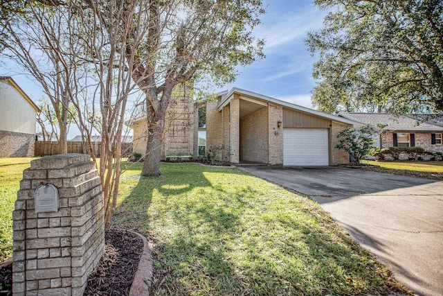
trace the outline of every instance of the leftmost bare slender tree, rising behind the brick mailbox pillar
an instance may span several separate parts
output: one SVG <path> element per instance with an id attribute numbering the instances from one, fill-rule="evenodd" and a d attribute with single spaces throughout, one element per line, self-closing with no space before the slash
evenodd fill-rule
<path id="1" fill-rule="evenodd" d="M 51 117 L 55 116 L 51 123 L 58 125 L 60 152 L 66 153 L 72 118 L 69 107 L 78 92 L 78 76 L 84 74 L 79 71 L 75 56 L 80 48 L 70 31 L 72 15 L 66 13 L 66 8 L 38 3 L 27 6 L 26 15 L 21 21 L 6 24 L 4 31 L 9 42 L 3 55 L 17 62 L 42 85 L 51 101 Z"/>

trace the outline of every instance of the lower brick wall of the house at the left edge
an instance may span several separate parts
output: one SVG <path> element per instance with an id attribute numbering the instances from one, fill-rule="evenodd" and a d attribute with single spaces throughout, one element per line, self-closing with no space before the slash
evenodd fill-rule
<path id="1" fill-rule="evenodd" d="M 0 157 L 33 157 L 35 134 L 0 130 Z"/>

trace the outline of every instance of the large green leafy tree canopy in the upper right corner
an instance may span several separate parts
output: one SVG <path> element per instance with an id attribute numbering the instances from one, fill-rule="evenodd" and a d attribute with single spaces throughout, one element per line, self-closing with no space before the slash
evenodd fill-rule
<path id="1" fill-rule="evenodd" d="M 319 110 L 443 111 L 443 1 L 315 3 L 330 10 L 307 38 Z"/>

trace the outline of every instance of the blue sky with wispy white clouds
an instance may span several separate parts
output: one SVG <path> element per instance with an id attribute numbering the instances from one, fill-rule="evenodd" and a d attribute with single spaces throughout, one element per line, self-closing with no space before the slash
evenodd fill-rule
<path id="1" fill-rule="evenodd" d="M 314 80 L 311 73 L 316 57 L 311 57 L 307 51 L 305 39 L 309 30 L 322 26 L 326 12 L 310 0 L 263 0 L 263 3 L 266 14 L 262 15 L 262 24 L 256 28 L 255 35 L 266 40 L 266 58 L 239 67 L 236 82 L 215 91 L 238 87 L 312 107 L 310 92 Z M 2 66 L 4 64 L 0 64 L 0 76 L 12 76 L 34 101 L 43 96 L 31 77 L 21 74 L 19 69 Z M 73 133 L 75 131 L 70 132 L 70 136 L 75 136 Z"/>

